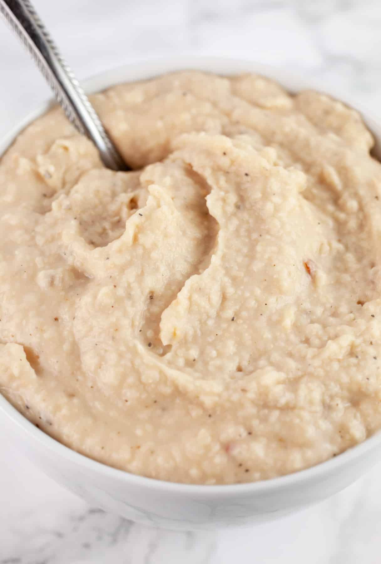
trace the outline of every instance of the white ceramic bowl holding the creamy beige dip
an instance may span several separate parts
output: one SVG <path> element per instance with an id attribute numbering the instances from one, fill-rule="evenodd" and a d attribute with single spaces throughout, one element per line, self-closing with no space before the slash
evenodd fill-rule
<path id="1" fill-rule="evenodd" d="M 220 58 L 175 58 L 138 63 L 109 70 L 85 82 L 88 92 L 126 81 L 140 80 L 180 69 L 220 74 L 257 72 L 275 78 L 290 91 L 323 90 L 360 109 L 366 124 L 381 142 L 381 120 L 326 85 L 250 61 Z M 46 103 L 0 141 L 0 155 L 30 121 L 47 109 Z M 376 153 L 377 153 L 376 148 Z M 381 433 L 313 468 L 263 482 L 231 486 L 194 486 L 161 482 L 122 472 L 70 450 L 48 437 L 23 417 L 0 394 L 0 427 L 43 472 L 89 503 L 145 525 L 172 529 L 212 529 L 263 522 L 295 512 L 343 490 L 381 460 Z"/>

